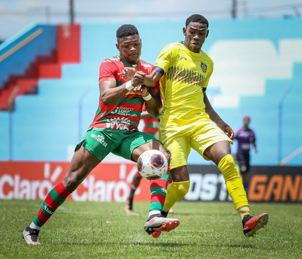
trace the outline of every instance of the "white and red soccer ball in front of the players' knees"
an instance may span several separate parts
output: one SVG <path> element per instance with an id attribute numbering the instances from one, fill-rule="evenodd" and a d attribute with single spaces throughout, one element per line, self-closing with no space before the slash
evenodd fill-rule
<path id="1" fill-rule="evenodd" d="M 159 150 L 147 150 L 137 160 L 137 170 L 140 175 L 148 180 L 161 178 L 168 169 L 168 160 Z"/>

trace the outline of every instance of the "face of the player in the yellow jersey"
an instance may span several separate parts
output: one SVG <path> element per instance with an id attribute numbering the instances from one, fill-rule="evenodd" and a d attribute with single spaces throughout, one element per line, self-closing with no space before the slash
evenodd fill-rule
<path id="1" fill-rule="evenodd" d="M 186 36 L 184 45 L 191 51 L 199 53 L 209 31 L 206 24 L 189 23 L 186 28 L 183 28 L 183 33 Z"/>

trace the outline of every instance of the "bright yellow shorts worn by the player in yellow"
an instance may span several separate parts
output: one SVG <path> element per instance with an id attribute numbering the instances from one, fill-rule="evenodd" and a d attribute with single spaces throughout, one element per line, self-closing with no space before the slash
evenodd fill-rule
<path id="1" fill-rule="evenodd" d="M 208 116 L 198 120 L 187 121 L 186 125 L 160 125 L 159 137 L 166 150 L 171 151 L 170 168 L 187 165 L 191 148 L 196 150 L 205 160 L 209 160 L 203 152 L 219 141 L 233 141 L 214 124 Z"/>

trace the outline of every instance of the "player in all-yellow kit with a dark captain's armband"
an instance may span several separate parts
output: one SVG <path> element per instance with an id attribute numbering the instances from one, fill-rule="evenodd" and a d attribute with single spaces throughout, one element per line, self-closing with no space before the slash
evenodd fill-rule
<path id="1" fill-rule="evenodd" d="M 153 72 L 144 79 L 147 87 L 155 86 L 160 80 L 164 107 L 159 137 L 172 154 L 170 175 L 173 182 L 167 188 L 162 215 L 167 216 L 189 190 L 187 159 L 193 148 L 218 166 L 241 217 L 245 236 L 254 236 L 267 224 L 268 214 L 250 215 L 247 195 L 231 155 L 234 131 L 214 111 L 206 95 L 213 72 L 213 60 L 201 50 L 209 34 L 207 19 L 198 14 L 190 16 L 183 34 L 184 41 L 170 43 L 162 49 Z M 137 71 L 133 67 L 123 71 L 124 77 L 131 78 Z"/>

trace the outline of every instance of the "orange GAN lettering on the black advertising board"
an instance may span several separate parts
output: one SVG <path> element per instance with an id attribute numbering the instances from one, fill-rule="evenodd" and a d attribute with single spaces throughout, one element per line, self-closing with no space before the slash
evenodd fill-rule
<path id="1" fill-rule="evenodd" d="M 249 200 L 253 202 L 302 202 L 302 175 L 254 174 Z"/>

